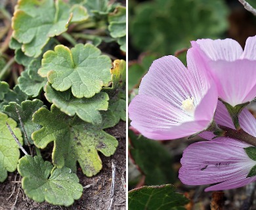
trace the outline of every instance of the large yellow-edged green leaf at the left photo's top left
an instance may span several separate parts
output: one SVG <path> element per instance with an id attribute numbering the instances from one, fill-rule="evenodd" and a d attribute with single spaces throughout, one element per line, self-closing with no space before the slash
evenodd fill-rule
<path id="1" fill-rule="evenodd" d="M 70 16 L 68 5 L 53 0 L 21 0 L 12 19 L 12 36 L 22 43 L 27 56 L 37 57 L 50 37 L 67 30 Z"/>

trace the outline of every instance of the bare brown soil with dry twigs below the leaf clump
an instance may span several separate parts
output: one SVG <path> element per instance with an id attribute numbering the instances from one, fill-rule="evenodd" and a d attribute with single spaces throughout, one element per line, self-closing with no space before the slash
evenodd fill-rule
<path id="1" fill-rule="evenodd" d="M 114 200 L 112 210 L 125 209 L 125 168 L 126 168 L 126 143 L 125 143 L 125 122 L 120 121 L 115 127 L 106 129 L 119 141 L 117 150 L 113 156 L 105 157 L 100 154 L 102 159 L 102 170 L 94 177 L 86 177 L 79 170 L 77 176 L 80 184 L 84 187 L 83 195 L 76 200 L 70 207 L 51 205 L 47 202 L 37 203 L 27 198 L 22 190 L 19 190 L 20 183 L 14 180 L 20 179 L 17 172 L 9 173 L 5 182 L 0 184 L 0 210 L 48 210 L 48 209 L 86 209 L 99 210 L 108 209 L 110 206 L 110 188 L 112 185 L 112 161 L 116 165 Z M 13 192 L 13 194 L 12 194 Z M 12 194 L 12 196 L 11 196 Z M 9 198 L 11 196 L 11 198 Z"/>

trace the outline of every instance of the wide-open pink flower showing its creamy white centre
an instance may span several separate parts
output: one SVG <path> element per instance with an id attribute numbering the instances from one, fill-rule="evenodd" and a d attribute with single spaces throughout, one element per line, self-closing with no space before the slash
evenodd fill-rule
<path id="1" fill-rule="evenodd" d="M 186 137 L 206 129 L 217 106 L 217 89 L 197 51 L 189 49 L 188 68 L 174 56 L 155 60 L 129 105 L 131 125 L 155 140 Z"/>

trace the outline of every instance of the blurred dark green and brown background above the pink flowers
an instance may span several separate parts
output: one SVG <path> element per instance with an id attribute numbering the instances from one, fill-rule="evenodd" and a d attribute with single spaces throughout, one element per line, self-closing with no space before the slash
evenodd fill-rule
<path id="1" fill-rule="evenodd" d="M 201 38 L 230 37 L 244 47 L 253 35 L 256 18 L 238 0 L 129 0 L 129 60 L 174 54 Z"/>

